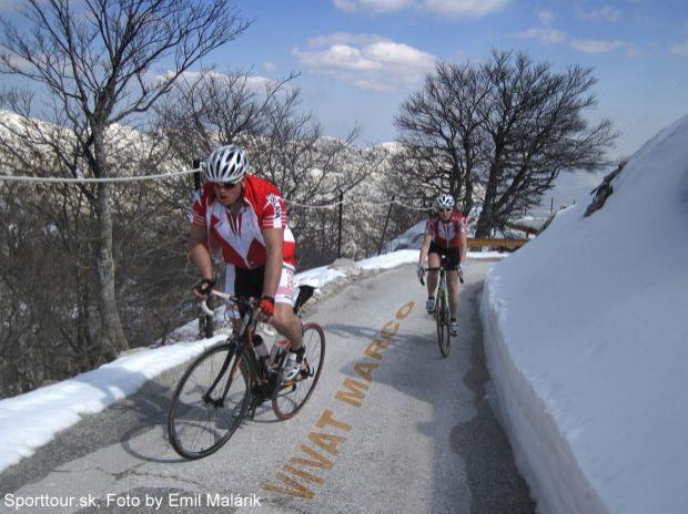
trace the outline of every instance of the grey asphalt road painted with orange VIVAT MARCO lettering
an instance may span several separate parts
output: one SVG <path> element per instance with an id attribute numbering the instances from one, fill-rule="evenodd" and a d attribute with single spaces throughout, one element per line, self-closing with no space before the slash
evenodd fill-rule
<path id="1" fill-rule="evenodd" d="M 311 316 L 326 359 L 294 419 L 266 403 L 219 452 L 183 461 L 164 429 L 182 371 L 171 370 L 0 474 L 0 512 L 534 512 L 486 399 L 488 266 L 472 263 L 448 358 L 415 267 L 355 281 Z"/>

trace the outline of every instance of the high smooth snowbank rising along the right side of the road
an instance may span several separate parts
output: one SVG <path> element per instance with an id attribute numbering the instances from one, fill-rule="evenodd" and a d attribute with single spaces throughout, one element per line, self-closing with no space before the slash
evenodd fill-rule
<path id="1" fill-rule="evenodd" d="M 543 512 L 688 512 L 688 116 L 486 280 L 495 403 Z"/>

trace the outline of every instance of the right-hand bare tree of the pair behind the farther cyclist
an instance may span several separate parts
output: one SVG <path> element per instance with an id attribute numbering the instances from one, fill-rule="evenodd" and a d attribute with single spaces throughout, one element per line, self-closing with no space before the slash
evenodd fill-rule
<path id="1" fill-rule="evenodd" d="M 563 169 L 607 164 L 605 152 L 616 137 L 610 121 L 590 126 L 585 119 L 597 103 L 589 93 L 596 82 L 591 69 L 556 73 L 525 53 L 495 51 L 480 71 L 489 85 L 479 105 L 489 166 L 477 237 L 539 203 Z"/>

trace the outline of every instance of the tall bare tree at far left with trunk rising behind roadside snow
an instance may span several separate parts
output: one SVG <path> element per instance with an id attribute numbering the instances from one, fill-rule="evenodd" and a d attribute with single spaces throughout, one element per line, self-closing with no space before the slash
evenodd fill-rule
<path id="1" fill-rule="evenodd" d="M 0 72 L 42 86 L 47 110 L 33 112 L 29 103 L 17 101 L 19 95 L 4 95 L 4 101 L 24 121 L 38 114 L 63 133 L 42 137 L 36 124 L 33 130 L 14 124 L 4 128 L 13 136 L 12 145 L 26 141 L 50 147 L 59 167 L 73 177 L 110 177 L 109 127 L 135 120 L 180 74 L 249 25 L 227 0 L 85 0 L 78 7 L 69 0 L 28 0 L 21 13 L 29 33 L 2 20 Z M 169 71 L 154 75 L 156 65 Z M 22 164 L 26 168 L 36 163 Z M 98 224 L 98 341 L 103 357 L 112 358 L 128 347 L 115 300 L 112 187 L 80 187 Z"/>

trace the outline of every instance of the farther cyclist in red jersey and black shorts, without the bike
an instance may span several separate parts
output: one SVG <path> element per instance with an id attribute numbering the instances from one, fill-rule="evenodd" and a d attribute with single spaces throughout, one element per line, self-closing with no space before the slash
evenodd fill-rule
<path id="1" fill-rule="evenodd" d="M 447 287 L 449 289 L 449 331 L 458 335 L 456 317 L 458 312 L 458 270 L 465 269 L 466 248 L 468 246 L 466 218 L 454 209 L 454 198 L 448 193 L 442 193 L 434 203 L 425 224 L 425 236 L 418 258 L 418 278 L 423 277 L 423 263 L 428 259 L 428 267 L 439 267 L 439 256 L 446 257 Z M 437 271 L 428 271 L 427 304 L 428 313 L 435 310 L 435 290 L 437 288 Z"/>

